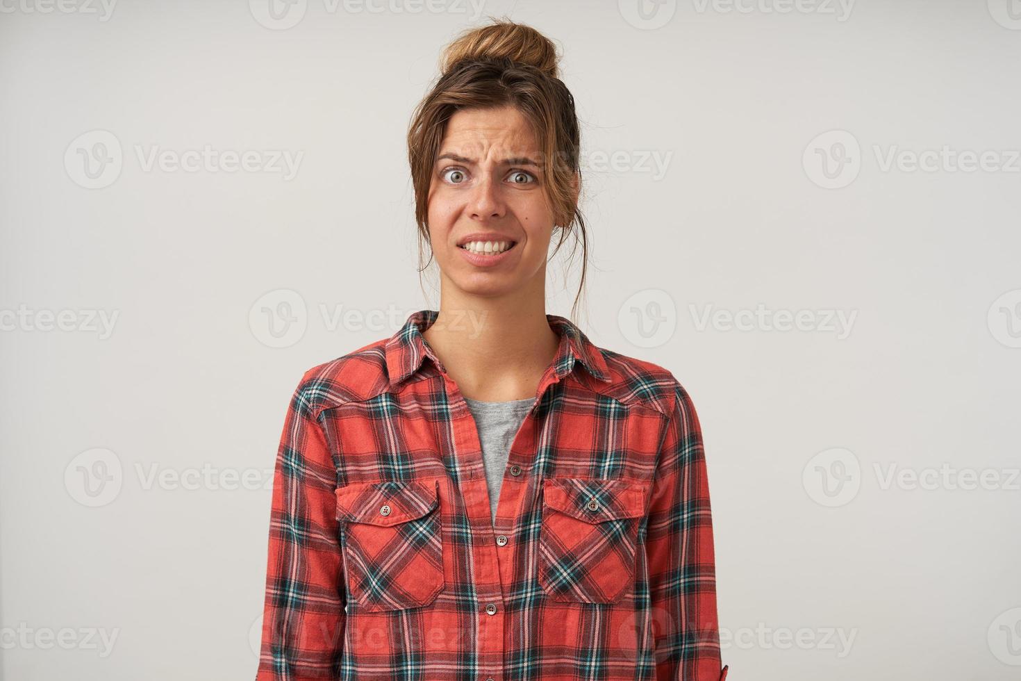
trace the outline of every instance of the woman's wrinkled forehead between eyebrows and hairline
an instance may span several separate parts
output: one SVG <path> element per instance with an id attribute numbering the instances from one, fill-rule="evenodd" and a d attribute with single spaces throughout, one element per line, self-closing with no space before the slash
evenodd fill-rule
<path id="1" fill-rule="evenodd" d="M 447 121 L 440 152 L 534 152 L 535 134 L 529 120 L 513 106 L 454 111 Z"/>

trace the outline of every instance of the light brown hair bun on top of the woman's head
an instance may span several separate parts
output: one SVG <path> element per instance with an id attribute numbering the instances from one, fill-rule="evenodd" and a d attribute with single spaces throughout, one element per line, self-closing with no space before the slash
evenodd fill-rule
<path id="1" fill-rule="evenodd" d="M 489 26 L 469 29 L 443 50 L 445 74 L 465 59 L 508 58 L 534 66 L 550 78 L 560 78 L 560 55 L 551 40 L 530 26 L 509 19 L 493 19 Z"/>

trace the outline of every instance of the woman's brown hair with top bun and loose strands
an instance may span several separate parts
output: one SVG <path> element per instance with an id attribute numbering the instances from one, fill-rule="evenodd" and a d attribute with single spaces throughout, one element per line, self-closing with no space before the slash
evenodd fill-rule
<path id="1" fill-rule="evenodd" d="M 581 244 L 581 282 L 574 304 L 577 307 L 585 287 L 588 234 L 572 186 L 577 178 L 580 192 L 578 117 L 574 97 L 560 80 L 558 59 L 552 41 L 532 27 L 506 18 L 493 18 L 488 26 L 469 29 L 443 51 L 442 72 L 416 108 L 407 131 L 420 275 L 429 265 L 422 265 L 423 241 L 429 243 L 429 188 L 447 120 L 458 109 L 509 105 L 529 120 L 539 144 L 542 188 L 553 213 L 553 225 L 561 229 L 553 253 L 560 250 L 568 233 L 574 235 L 576 247 Z"/>

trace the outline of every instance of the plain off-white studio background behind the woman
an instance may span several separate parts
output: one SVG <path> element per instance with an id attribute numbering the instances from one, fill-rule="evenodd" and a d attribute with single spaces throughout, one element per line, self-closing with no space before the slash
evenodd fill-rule
<path id="1" fill-rule="evenodd" d="M 291 391 L 438 306 L 406 126 L 504 13 L 583 124 L 578 322 L 701 420 L 729 678 L 1017 679 L 1021 5 L 430 6 L 0 1 L 3 679 L 254 676 Z M 256 166 L 148 164 L 206 147 Z"/>

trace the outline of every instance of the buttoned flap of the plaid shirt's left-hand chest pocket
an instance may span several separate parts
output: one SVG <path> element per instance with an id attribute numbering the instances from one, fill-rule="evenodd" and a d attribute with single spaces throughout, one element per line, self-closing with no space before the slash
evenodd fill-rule
<path id="1" fill-rule="evenodd" d="M 439 505 L 439 481 L 385 481 L 338 487 L 337 520 L 389 527 Z"/>

